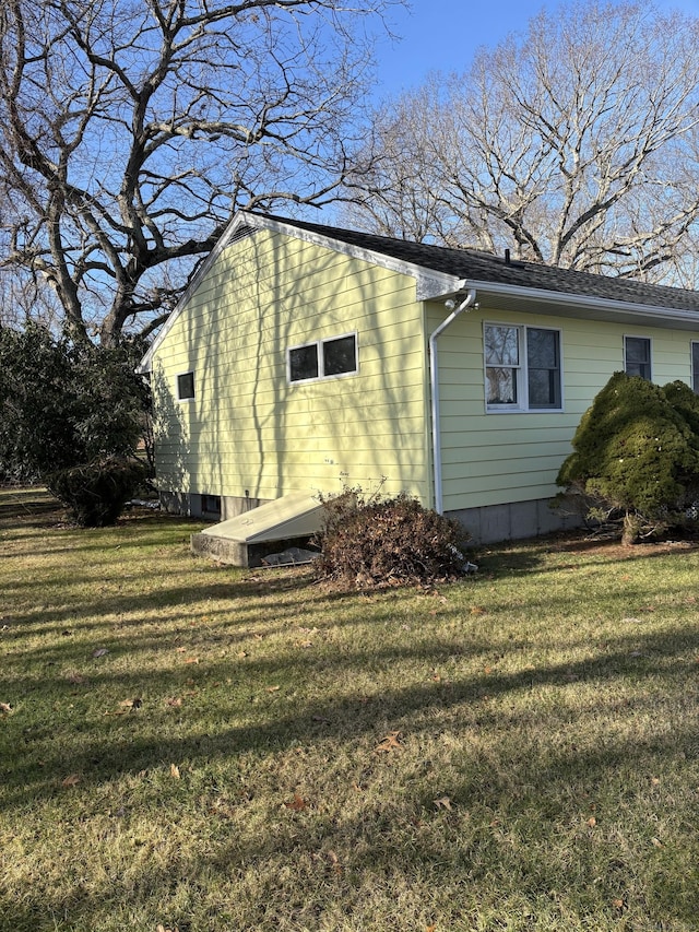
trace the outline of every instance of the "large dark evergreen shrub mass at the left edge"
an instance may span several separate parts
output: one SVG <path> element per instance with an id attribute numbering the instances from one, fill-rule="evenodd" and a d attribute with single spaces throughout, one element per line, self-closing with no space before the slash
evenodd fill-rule
<path id="1" fill-rule="evenodd" d="M 116 520 L 144 477 L 134 459 L 150 389 L 134 371 L 139 351 L 0 327 L 0 477 L 40 479 L 81 524 Z"/>

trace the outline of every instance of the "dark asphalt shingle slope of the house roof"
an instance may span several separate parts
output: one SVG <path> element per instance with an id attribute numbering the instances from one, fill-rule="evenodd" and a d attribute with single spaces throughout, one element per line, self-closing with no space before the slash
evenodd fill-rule
<path id="1" fill-rule="evenodd" d="M 578 272 L 534 262 L 520 262 L 519 260 L 508 263 L 505 257 L 476 249 L 450 249 L 445 246 L 411 243 L 320 223 L 287 217 L 270 219 L 330 239 L 336 239 L 350 246 L 368 249 L 390 256 L 393 259 L 412 262 L 425 269 L 474 282 L 520 285 L 525 288 L 599 297 L 603 300 L 699 311 L 699 292 L 686 288 L 650 285 L 632 279 L 595 275 L 590 272 Z"/>

